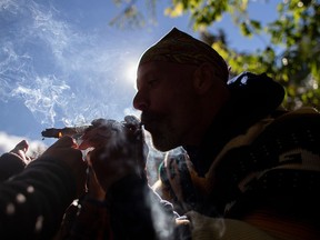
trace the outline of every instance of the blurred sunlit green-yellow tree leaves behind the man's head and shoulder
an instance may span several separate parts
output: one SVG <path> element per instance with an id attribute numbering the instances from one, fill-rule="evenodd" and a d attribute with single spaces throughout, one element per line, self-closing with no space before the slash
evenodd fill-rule
<path id="1" fill-rule="evenodd" d="M 126 2 L 130 8 L 136 3 L 134 0 Z M 146 2 L 154 13 L 157 0 Z M 286 87 L 287 108 L 312 106 L 320 109 L 320 1 L 279 1 L 274 10 L 278 18 L 266 26 L 262 26 L 263 16 L 261 19 L 250 17 L 249 4 L 249 0 L 171 0 L 164 14 L 171 18 L 190 16 L 193 30 L 221 53 L 231 67 L 231 74 L 244 70 L 267 72 Z M 134 17 L 139 16 L 138 9 Z M 264 49 L 240 52 L 228 46 L 224 31 L 210 32 L 209 29 L 226 14 L 230 14 L 244 37 L 268 36 L 270 41 Z"/>

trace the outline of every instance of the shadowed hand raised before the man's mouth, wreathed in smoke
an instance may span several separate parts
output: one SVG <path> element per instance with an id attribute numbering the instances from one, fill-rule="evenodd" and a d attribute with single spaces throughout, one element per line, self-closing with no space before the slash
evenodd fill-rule
<path id="1" fill-rule="evenodd" d="M 91 124 L 81 137 L 79 149 L 92 148 L 87 160 L 106 192 L 126 176 L 147 178 L 147 144 L 137 118 L 127 116 L 124 121 L 97 119 Z"/>

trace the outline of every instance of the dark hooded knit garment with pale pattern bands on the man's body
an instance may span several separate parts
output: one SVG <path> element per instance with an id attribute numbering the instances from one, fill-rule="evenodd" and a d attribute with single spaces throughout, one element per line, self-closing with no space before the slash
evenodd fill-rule
<path id="1" fill-rule="evenodd" d="M 180 214 L 249 219 L 274 236 L 271 214 L 320 229 L 320 113 L 277 107 L 283 94 L 264 74 L 244 72 L 229 84 L 233 99 L 202 144 L 169 152 L 154 190 Z"/>

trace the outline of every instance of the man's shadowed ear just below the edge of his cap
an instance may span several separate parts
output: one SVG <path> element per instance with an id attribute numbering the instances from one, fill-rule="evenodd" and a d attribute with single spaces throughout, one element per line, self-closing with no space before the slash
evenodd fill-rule
<path id="1" fill-rule="evenodd" d="M 193 74 L 193 87 L 198 94 L 206 93 L 213 84 L 213 69 L 209 63 L 202 63 Z"/>

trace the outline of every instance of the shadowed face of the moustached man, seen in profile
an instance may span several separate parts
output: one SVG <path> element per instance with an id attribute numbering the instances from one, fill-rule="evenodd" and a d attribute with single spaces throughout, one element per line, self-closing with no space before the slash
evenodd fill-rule
<path id="1" fill-rule="evenodd" d="M 147 62 L 138 69 L 133 107 L 160 151 L 184 144 L 197 122 L 196 69 L 171 62 Z"/>

